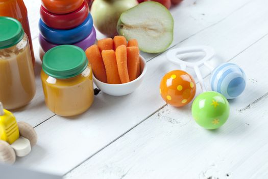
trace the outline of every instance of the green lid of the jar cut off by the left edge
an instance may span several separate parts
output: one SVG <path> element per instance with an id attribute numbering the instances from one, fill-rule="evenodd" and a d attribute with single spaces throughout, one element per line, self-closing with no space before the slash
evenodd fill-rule
<path id="1" fill-rule="evenodd" d="M 20 22 L 11 17 L 0 17 L 0 49 L 15 46 L 24 36 Z"/>

